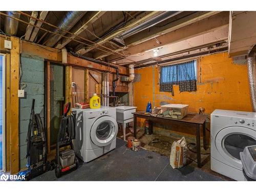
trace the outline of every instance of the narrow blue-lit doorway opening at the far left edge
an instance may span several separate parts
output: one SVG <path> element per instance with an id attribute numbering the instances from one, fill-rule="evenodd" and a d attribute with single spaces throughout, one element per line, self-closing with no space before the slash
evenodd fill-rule
<path id="1" fill-rule="evenodd" d="M 5 171 L 5 63 L 0 54 L 0 172 Z"/>

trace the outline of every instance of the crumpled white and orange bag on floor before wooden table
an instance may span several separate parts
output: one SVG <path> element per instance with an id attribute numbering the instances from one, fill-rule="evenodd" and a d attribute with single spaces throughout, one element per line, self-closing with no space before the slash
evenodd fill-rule
<path id="1" fill-rule="evenodd" d="M 186 164 L 187 143 L 185 137 L 172 144 L 170 151 L 170 166 L 173 168 L 181 168 Z"/>

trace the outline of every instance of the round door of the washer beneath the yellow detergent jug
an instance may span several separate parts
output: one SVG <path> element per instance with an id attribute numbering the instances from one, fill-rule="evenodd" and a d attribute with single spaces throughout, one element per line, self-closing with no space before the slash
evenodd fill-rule
<path id="1" fill-rule="evenodd" d="M 93 123 L 91 140 L 98 146 L 106 146 L 116 138 L 117 132 L 116 120 L 110 116 L 103 116 Z"/>

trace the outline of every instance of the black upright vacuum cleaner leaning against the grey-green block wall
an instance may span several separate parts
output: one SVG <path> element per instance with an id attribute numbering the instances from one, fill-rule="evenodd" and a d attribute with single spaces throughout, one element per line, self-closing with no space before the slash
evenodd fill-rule
<path id="1" fill-rule="evenodd" d="M 27 155 L 28 159 L 25 177 L 30 180 L 48 171 L 46 136 L 44 126 L 39 114 L 34 111 L 35 99 L 32 100 L 31 114 L 27 134 Z"/>

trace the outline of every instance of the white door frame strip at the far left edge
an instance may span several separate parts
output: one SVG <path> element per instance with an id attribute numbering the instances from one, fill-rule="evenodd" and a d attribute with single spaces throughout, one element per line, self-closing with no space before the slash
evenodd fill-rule
<path id="1" fill-rule="evenodd" d="M 2 164 L 3 168 L 1 171 L 6 172 L 6 54 L 0 53 L 1 56 L 3 56 L 3 75 L 2 75 L 2 89 L 3 89 L 3 124 L 2 124 L 2 135 L 3 135 L 3 144 L 2 144 Z"/>

